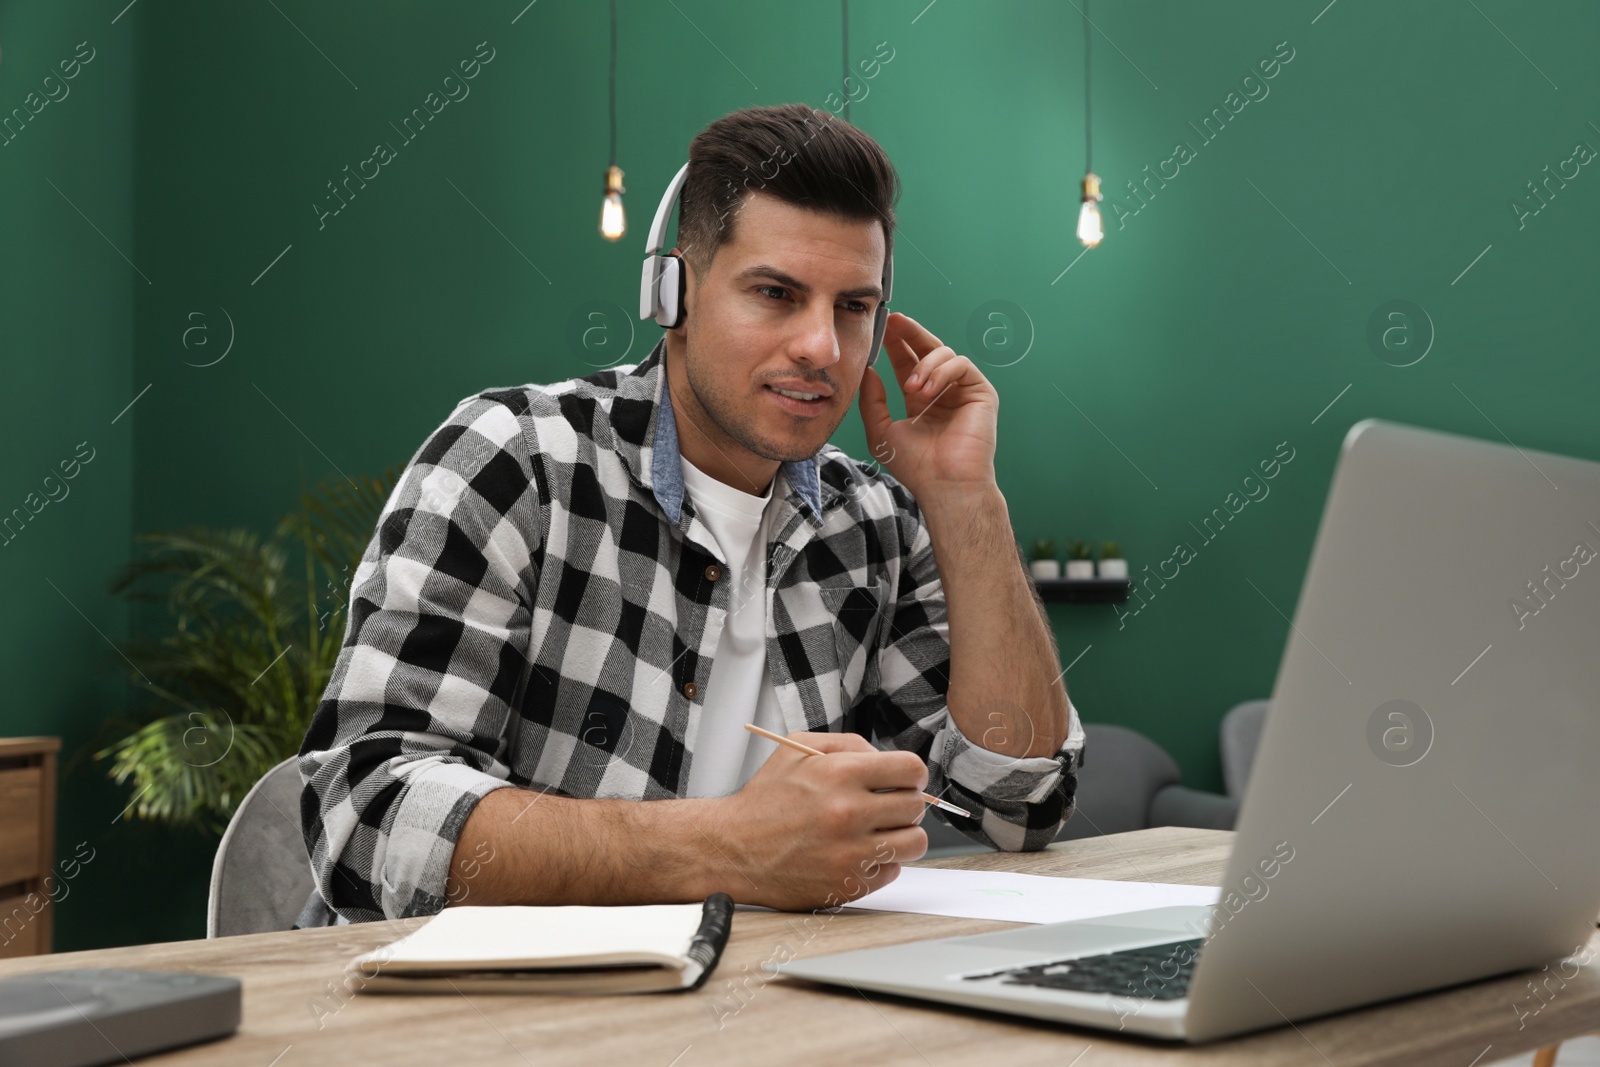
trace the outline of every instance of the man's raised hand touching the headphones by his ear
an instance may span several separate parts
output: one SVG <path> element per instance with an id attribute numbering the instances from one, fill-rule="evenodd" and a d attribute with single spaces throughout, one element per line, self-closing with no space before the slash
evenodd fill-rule
<path id="1" fill-rule="evenodd" d="M 992 488 L 995 387 L 909 315 L 890 315 L 883 349 L 906 395 L 906 418 L 890 416 L 883 379 L 867 368 L 859 408 L 872 458 L 918 499 Z"/>

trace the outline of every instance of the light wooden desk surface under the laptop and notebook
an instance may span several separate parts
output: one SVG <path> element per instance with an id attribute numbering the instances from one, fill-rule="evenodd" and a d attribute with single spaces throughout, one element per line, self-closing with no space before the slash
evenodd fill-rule
<path id="1" fill-rule="evenodd" d="M 1165 827 L 1053 845 L 1045 853 L 984 853 L 934 861 L 970 870 L 1218 885 L 1232 833 Z M 1490 979 L 1376 1008 L 1197 1048 L 1112 1032 L 1035 1024 L 768 977 L 782 958 L 1005 929 L 1011 923 L 838 912 L 738 912 L 712 977 L 694 993 L 642 997 L 350 993 L 344 965 L 416 929 L 422 918 L 328 929 L 182 941 L 0 961 L 0 977 L 83 966 L 146 966 L 232 974 L 245 1014 L 224 1041 L 139 1064 L 870 1064 L 946 1067 L 1112 1067 L 1125 1064 L 1312 1064 L 1467 1067 L 1600 1029 L 1600 952 L 1544 1006 L 1530 1011 L 1533 973 Z M 1589 942 L 1600 950 L 1600 933 Z M 1554 968 L 1552 968 L 1554 971 Z M 1552 979 L 1554 984 L 1555 979 Z M 869 998 L 870 997 L 870 998 Z M 722 1006 L 722 1013 L 717 1006 Z M 1518 1030 L 1518 1005 L 1522 1025 Z M 720 1025 L 718 1025 L 720 1022 Z M 320 1024 L 320 1027 L 318 1027 Z M 1088 1049 L 1083 1059 L 1077 1059 Z"/>

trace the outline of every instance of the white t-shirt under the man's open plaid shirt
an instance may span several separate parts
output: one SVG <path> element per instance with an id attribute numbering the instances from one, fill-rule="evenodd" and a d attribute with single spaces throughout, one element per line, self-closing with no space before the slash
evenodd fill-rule
<path id="1" fill-rule="evenodd" d="M 682 456 L 680 456 L 682 459 Z M 686 797 L 726 797 L 742 787 L 776 749 L 744 728 L 787 733 L 766 669 L 766 544 L 778 514 L 773 475 L 765 496 L 741 493 L 683 459 L 683 488 L 728 561 L 728 617 L 717 640 L 699 707 Z"/>

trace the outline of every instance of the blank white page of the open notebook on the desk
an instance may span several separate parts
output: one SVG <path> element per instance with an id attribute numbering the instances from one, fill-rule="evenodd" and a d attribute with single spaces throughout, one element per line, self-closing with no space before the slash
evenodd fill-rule
<path id="1" fill-rule="evenodd" d="M 446 907 L 389 950 L 386 965 L 562 966 L 653 958 L 677 965 L 699 929 L 702 904 L 621 907 Z"/>

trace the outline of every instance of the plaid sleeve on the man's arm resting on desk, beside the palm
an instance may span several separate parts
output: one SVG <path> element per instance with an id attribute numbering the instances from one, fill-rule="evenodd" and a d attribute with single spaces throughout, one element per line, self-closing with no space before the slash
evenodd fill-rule
<path id="1" fill-rule="evenodd" d="M 350 921 L 430 915 L 461 827 L 510 785 L 539 545 L 517 411 L 470 397 L 395 485 L 299 752 L 317 888 Z"/>

